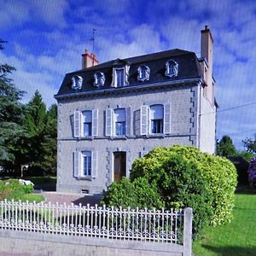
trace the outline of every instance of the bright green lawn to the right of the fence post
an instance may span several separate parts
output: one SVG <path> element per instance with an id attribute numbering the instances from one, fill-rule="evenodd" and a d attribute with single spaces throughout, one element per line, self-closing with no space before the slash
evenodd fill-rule
<path id="1" fill-rule="evenodd" d="M 248 189 L 236 194 L 233 214 L 230 224 L 208 227 L 205 237 L 194 241 L 195 256 L 256 255 L 256 194 Z"/>

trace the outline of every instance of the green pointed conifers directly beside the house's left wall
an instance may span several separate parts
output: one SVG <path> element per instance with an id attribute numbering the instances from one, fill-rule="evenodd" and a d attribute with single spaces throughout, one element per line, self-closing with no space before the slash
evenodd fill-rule
<path id="1" fill-rule="evenodd" d="M 39 91 L 27 103 L 26 140 L 28 164 L 30 170 L 37 172 L 55 172 L 57 152 L 57 108 L 52 105 L 47 111 Z"/>

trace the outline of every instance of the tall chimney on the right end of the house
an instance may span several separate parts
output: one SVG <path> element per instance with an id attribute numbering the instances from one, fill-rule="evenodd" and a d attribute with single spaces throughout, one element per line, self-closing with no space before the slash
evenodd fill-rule
<path id="1" fill-rule="evenodd" d="M 213 38 L 208 26 L 201 30 L 201 59 L 203 61 L 202 73 L 207 88 L 205 95 L 213 102 L 214 101 L 214 81 L 212 79 L 212 54 L 213 54 Z"/>

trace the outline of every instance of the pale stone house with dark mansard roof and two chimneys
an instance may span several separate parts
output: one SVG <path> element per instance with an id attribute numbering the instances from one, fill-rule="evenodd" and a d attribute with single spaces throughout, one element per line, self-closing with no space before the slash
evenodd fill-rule
<path id="1" fill-rule="evenodd" d="M 170 49 L 99 64 L 85 50 L 83 68 L 67 73 L 55 95 L 57 191 L 102 193 L 154 147 L 192 145 L 214 154 L 212 44 L 206 26 L 200 58 Z"/>

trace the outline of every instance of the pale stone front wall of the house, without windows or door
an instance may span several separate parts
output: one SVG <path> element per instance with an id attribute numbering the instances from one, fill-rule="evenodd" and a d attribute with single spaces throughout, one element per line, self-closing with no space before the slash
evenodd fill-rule
<path id="1" fill-rule="evenodd" d="M 129 177 L 132 162 L 143 151 L 173 144 L 196 146 L 197 94 L 196 86 L 166 87 L 160 90 L 144 90 L 90 96 L 62 101 L 58 104 L 58 174 L 57 190 L 63 192 L 102 193 L 113 182 L 113 152 L 126 152 L 126 176 Z M 140 136 L 140 108 L 143 104 L 171 103 L 171 134 L 166 136 Z M 98 136 L 93 139 L 73 137 L 73 113 L 75 110 L 98 109 Z M 105 137 L 105 110 L 107 108 L 131 108 L 131 136 Z M 98 151 L 97 177 L 78 180 L 73 177 L 73 152 Z"/>

